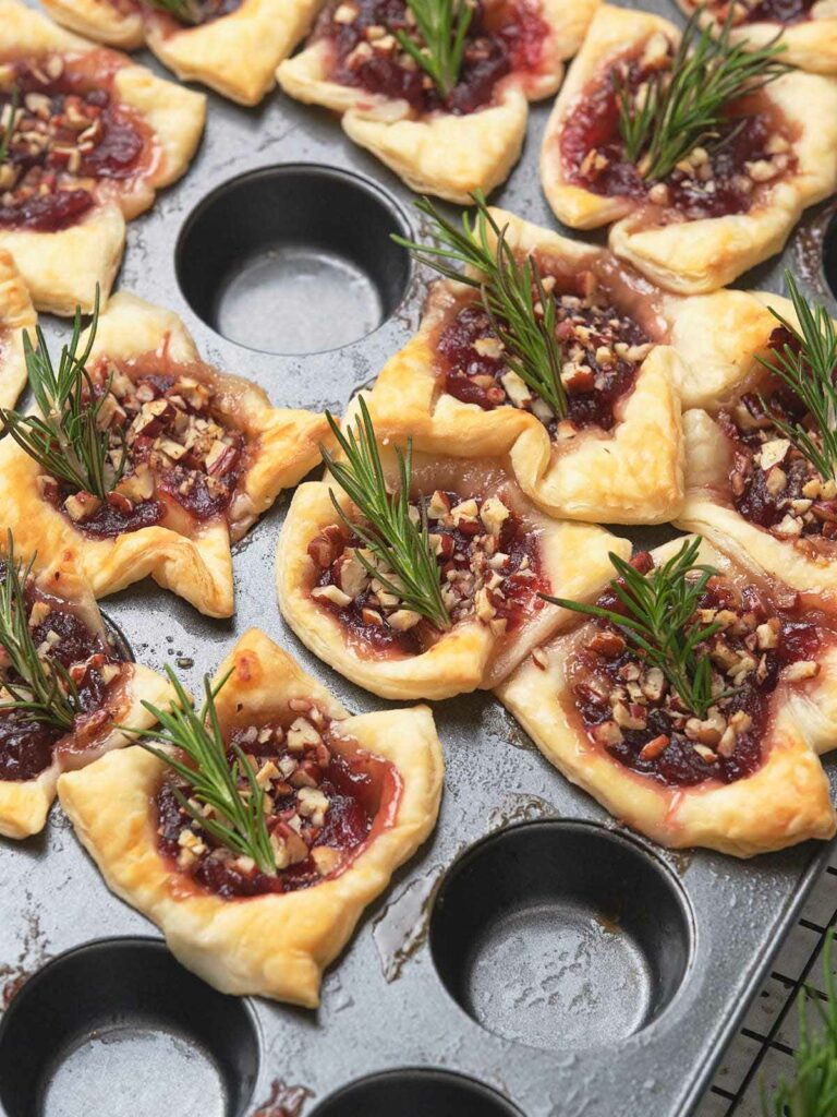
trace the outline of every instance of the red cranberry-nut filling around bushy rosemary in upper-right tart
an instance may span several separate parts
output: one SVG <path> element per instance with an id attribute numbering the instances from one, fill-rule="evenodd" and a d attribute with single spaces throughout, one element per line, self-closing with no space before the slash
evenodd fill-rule
<path id="1" fill-rule="evenodd" d="M 660 182 L 643 179 L 626 156 L 614 75 L 629 96 L 643 96 L 650 75 L 667 68 L 671 58 L 671 46 L 657 34 L 642 57 L 625 56 L 593 79 L 561 130 L 565 173 L 593 193 L 657 208 L 661 222 L 745 213 L 760 187 L 792 173 L 795 166 L 789 136 L 761 94 L 730 103 L 728 121 L 719 126 L 712 146 L 694 147 Z"/>

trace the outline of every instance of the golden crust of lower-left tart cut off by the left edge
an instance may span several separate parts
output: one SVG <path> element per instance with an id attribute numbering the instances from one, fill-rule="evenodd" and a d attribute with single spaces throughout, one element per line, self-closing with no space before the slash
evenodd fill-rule
<path id="1" fill-rule="evenodd" d="M 104 633 L 96 600 L 78 572 L 71 550 L 60 548 L 49 564 L 37 564 L 35 573 L 40 591 L 70 602 L 78 617 L 94 632 Z M 56 742 L 52 764 L 33 780 L 0 780 L 0 834 L 4 838 L 28 838 L 42 830 L 61 772 L 81 767 L 113 748 L 121 748 L 131 738 L 116 725 L 127 722 L 138 728 L 153 725 L 154 718 L 142 701 L 164 706 L 170 695 L 169 682 L 156 671 L 140 663 L 124 663 L 121 678 L 108 689 L 107 708 L 112 717 L 97 733 L 85 739 L 84 745 L 76 744 L 71 735 L 61 737 Z"/>

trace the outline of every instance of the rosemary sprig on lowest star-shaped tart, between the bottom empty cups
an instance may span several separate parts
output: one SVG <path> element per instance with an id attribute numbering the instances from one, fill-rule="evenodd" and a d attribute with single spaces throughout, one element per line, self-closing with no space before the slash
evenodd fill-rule
<path id="1" fill-rule="evenodd" d="M 232 670 L 214 687 L 210 677 L 204 676 L 205 697 L 200 713 L 195 713 L 192 699 L 167 665 L 165 672 L 174 688 L 176 701 L 167 710 L 143 701 L 143 706 L 160 726 L 153 729 L 125 728 L 141 738 L 143 748 L 147 748 L 186 781 L 189 798 L 179 787 L 173 787 L 175 799 L 206 833 L 233 853 L 251 857 L 262 872 L 276 875 L 276 856 L 264 821 L 264 792 L 257 783 L 252 764 L 242 748 L 233 743 L 231 750 L 234 760 L 228 758 L 218 719 L 215 696 L 229 680 Z M 186 764 L 176 754 L 157 748 L 150 743 L 152 741 L 181 750 L 191 763 Z M 242 776 L 247 780 L 243 792 L 239 787 Z M 195 802 L 212 808 L 214 814 L 204 814 L 203 810 L 194 805 Z"/>

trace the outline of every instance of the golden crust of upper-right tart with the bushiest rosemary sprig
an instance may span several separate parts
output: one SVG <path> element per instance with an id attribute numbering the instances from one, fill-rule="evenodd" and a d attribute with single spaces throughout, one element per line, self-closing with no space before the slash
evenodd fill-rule
<path id="1" fill-rule="evenodd" d="M 795 71 L 766 88 L 766 97 L 793 134 L 797 169 L 763 188 L 749 212 L 662 226 L 652 218 L 648 223 L 633 200 L 595 194 L 567 180 L 560 134 L 605 63 L 660 31 L 673 40 L 680 34 L 673 23 L 647 12 L 599 8 L 547 124 L 541 178 L 549 204 L 566 225 L 594 229 L 615 222 L 609 240 L 617 256 L 668 290 L 701 294 L 780 251 L 802 210 L 837 189 L 837 82 Z"/>

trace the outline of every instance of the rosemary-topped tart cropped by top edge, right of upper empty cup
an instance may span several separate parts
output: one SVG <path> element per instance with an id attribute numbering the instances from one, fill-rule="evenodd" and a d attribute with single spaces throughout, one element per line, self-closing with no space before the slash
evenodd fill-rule
<path id="1" fill-rule="evenodd" d="M 506 180 L 598 0 L 328 0 L 282 89 L 338 113 L 414 190 L 466 204 Z M 433 10 L 429 10 L 433 8 Z"/>

